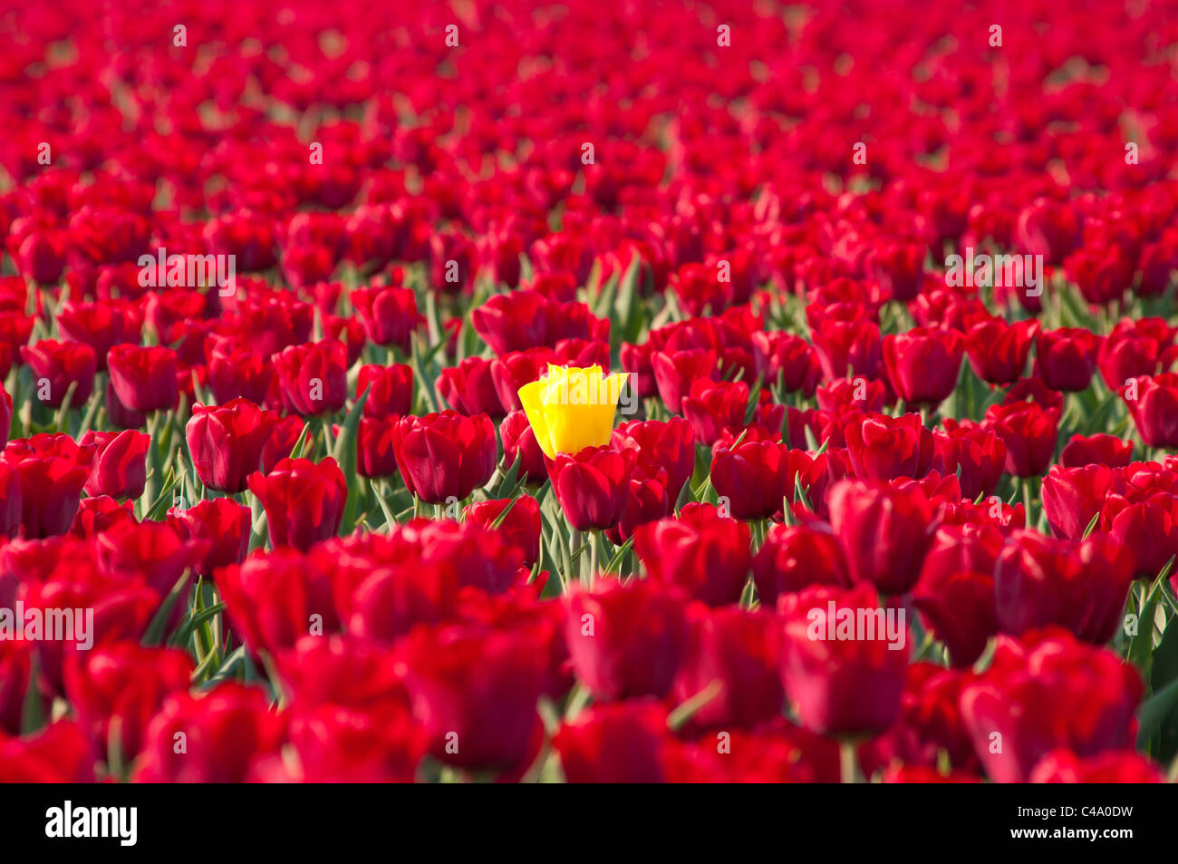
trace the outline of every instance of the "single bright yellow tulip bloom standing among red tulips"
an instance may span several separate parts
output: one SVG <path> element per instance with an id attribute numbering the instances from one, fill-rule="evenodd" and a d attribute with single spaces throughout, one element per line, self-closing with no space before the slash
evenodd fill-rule
<path id="1" fill-rule="evenodd" d="M 548 364 L 548 375 L 519 388 L 519 402 L 549 459 L 609 443 L 614 411 L 628 372 L 605 376 L 587 369 Z"/>

